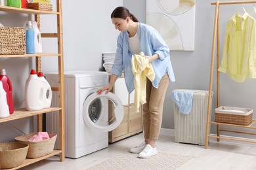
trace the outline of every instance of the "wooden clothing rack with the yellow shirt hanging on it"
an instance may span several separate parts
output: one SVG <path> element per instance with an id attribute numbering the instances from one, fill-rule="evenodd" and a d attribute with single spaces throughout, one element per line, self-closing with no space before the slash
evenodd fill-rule
<path id="1" fill-rule="evenodd" d="M 252 127 L 251 125 L 256 122 L 256 120 L 253 120 L 253 123 L 249 126 L 241 126 L 236 124 L 224 124 L 219 122 L 212 122 L 211 119 L 211 90 L 213 86 L 213 67 L 214 67 L 214 59 L 215 59 L 215 46 L 216 48 L 216 56 L 217 56 L 217 107 L 219 107 L 219 7 L 220 5 L 234 5 L 234 4 L 248 4 L 248 3 L 256 3 L 256 1 L 216 1 L 215 3 L 211 3 L 211 5 L 215 5 L 215 21 L 214 21 L 214 29 L 213 29 L 213 44 L 211 48 L 211 67 L 210 67 L 210 80 L 209 80 L 209 95 L 208 95 L 208 105 L 207 105 L 207 127 L 206 127 L 206 136 L 205 136 L 205 148 L 208 147 L 209 143 L 209 137 L 216 138 L 217 141 L 220 141 L 220 139 L 228 139 L 228 140 L 234 140 L 234 141 L 242 141 L 242 142 L 250 142 L 250 143 L 256 143 L 256 141 L 253 140 L 247 140 L 247 139 L 238 139 L 234 137 L 221 137 L 220 131 L 228 131 L 232 133 L 244 133 L 248 135 L 256 135 L 256 133 L 248 133 L 245 131 L 232 131 L 232 130 L 226 130 L 221 129 L 220 126 L 233 126 L 233 127 L 245 127 L 249 129 L 256 129 L 256 127 Z M 211 124 L 217 125 L 217 135 L 209 135 L 209 127 Z"/>

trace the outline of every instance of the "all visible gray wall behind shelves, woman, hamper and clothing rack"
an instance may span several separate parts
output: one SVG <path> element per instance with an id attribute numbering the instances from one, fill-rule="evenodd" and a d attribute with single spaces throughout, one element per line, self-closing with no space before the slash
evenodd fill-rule
<path id="1" fill-rule="evenodd" d="M 173 102 L 171 92 L 175 89 L 208 90 L 209 67 L 211 65 L 211 47 L 213 36 L 213 22 L 215 6 L 210 0 L 196 1 L 196 32 L 195 50 L 192 52 L 171 51 L 171 61 L 175 71 L 176 82 L 170 83 L 165 97 L 163 109 L 163 128 L 174 129 Z M 53 5 L 54 1 L 52 1 Z M 146 0 L 95 0 L 62 1 L 63 31 L 64 31 L 64 69 L 98 71 L 102 64 L 102 52 L 116 50 L 116 38 L 119 34 L 111 22 L 110 14 L 117 6 L 127 7 L 140 22 L 146 21 Z M 244 5 L 247 12 L 251 12 L 253 5 Z M 236 12 L 242 12 L 241 5 L 221 6 L 221 46 L 223 46 L 226 21 Z M 253 15 L 256 16 L 256 15 Z M 52 16 L 41 16 L 42 32 L 55 32 L 56 27 L 46 25 L 46 22 L 55 24 Z M 6 26 L 25 25 L 30 16 L 26 14 L 0 13 L 0 22 Z M 43 50 L 56 52 L 56 46 L 49 40 L 43 40 Z M 222 50 L 222 48 L 221 48 Z M 32 58 L 1 59 L 0 67 L 7 69 L 7 73 L 14 86 L 15 108 L 24 107 L 24 85 L 30 69 L 34 68 Z M 42 59 L 43 72 L 57 71 L 56 58 Z M 216 78 L 214 73 L 214 78 Z M 256 109 L 255 96 L 256 81 L 247 79 L 244 83 L 230 80 L 226 74 L 221 74 L 221 105 L 247 107 Z M 216 92 L 216 81 L 213 81 L 213 91 Z M 216 107 L 216 94 L 213 97 L 213 110 Z M 255 117 L 255 116 L 254 116 Z M 212 114 L 214 119 L 214 114 Z M 0 124 L 0 135 L 8 135 L 12 139 L 15 135 L 22 135 L 33 131 L 33 123 L 29 119 L 12 121 Z M 10 125 L 11 124 L 11 125 Z M 15 126 L 15 127 L 13 127 Z M 7 130 L 5 130 L 7 129 Z M 9 131 L 12 129 L 12 132 Z M 20 131 L 19 131 L 19 130 Z M 215 133 L 215 126 L 211 128 Z M 3 135 L 3 133 L 5 135 Z M 7 141 L 2 139 L 1 141 Z"/>

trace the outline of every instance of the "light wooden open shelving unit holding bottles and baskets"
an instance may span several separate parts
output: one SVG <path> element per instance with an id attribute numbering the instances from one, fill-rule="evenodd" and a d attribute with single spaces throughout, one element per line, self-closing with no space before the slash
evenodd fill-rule
<path id="1" fill-rule="evenodd" d="M 58 110 L 59 120 L 60 120 L 60 132 L 58 134 L 58 137 L 60 138 L 60 149 L 54 150 L 52 154 L 49 154 L 47 156 L 43 156 L 40 158 L 35 159 L 26 159 L 24 163 L 18 167 L 14 167 L 14 169 L 19 169 L 20 167 L 24 167 L 26 165 L 30 165 L 31 163 L 35 163 L 37 161 L 43 160 L 45 158 L 49 158 L 51 156 L 54 156 L 56 154 L 60 155 L 60 161 L 64 161 L 65 154 L 64 154 L 64 71 L 63 71 L 63 42 L 62 42 L 62 1 L 56 0 L 56 10 L 53 12 L 49 11 L 43 11 L 43 10 L 32 10 L 32 9 L 19 9 L 14 7 L 7 7 L 7 6 L 0 6 L 0 11 L 5 11 L 4 15 L 11 14 L 11 13 L 20 13 L 20 14 L 32 14 L 34 15 L 35 21 L 37 21 L 37 25 L 39 24 L 39 17 L 41 14 L 47 14 L 47 15 L 55 15 L 56 16 L 56 27 L 57 27 L 57 33 L 41 33 L 42 38 L 54 38 L 57 39 L 58 43 L 58 53 L 52 54 L 52 53 L 40 53 L 40 54 L 24 54 L 24 55 L 0 55 L 0 62 L 3 58 L 9 58 L 10 62 L 12 58 L 35 58 L 35 65 L 37 73 L 41 71 L 41 58 L 43 57 L 56 57 L 58 58 L 58 64 L 56 64 L 56 67 L 58 67 L 58 78 L 59 83 L 58 86 L 52 87 L 53 91 L 59 92 L 59 106 L 58 107 L 51 107 L 49 109 L 43 109 L 43 110 L 37 110 L 37 111 L 27 111 L 26 109 L 18 109 L 14 110 L 14 113 L 11 114 L 7 118 L 0 118 L 1 122 L 9 122 L 11 120 L 18 120 L 20 118 L 26 118 L 30 116 L 37 116 L 37 131 L 42 131 L 42 115 L 43 113 L 47 112 L 53 112 Z M 0 16 L 2 17 L 2 16 Z M 26 21 L 25 21 L 26 22 Z M 47 50 L 45 50 L 47 51 Z M 12 82 L 17 83 L 17 82 Z"/>

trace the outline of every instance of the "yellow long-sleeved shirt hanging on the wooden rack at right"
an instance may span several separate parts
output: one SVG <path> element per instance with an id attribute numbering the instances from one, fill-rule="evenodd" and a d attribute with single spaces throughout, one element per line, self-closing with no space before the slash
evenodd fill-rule
<path id="1" fill-rule="evenodd" d="M 256 78 L 256 27 L 249 14 L 234 14 L 226 27 L 223 58 L 218 71 L 236 82 L 244 82 L 247 75 Z"/>

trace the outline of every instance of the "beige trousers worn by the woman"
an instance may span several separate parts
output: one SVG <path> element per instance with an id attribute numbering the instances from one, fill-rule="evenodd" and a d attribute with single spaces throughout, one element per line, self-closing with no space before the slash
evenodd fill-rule
<path id="1" fill-rule="evenodd" d="M 143 105 L 144 138 L 157 140 L 163 118 L 163 102 L 169 84 L 167 73 L 163 75 L 158 88 L 152 86 L 152 82 L 146 82 L 146 103 Z"/>

